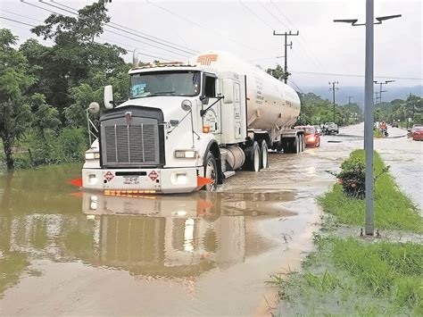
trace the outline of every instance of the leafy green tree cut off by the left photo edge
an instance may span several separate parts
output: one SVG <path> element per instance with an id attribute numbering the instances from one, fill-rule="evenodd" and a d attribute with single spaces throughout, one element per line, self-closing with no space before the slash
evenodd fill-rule
<path id="1" fill-rule="evenodd" d="M 0 137 L 8 170 L 14 168 L 13 145 L 31 122 L 24 94 L 35 82 L 25 56 L 12 48 L 16 40 L 9 29 L 0 29 Z"/>

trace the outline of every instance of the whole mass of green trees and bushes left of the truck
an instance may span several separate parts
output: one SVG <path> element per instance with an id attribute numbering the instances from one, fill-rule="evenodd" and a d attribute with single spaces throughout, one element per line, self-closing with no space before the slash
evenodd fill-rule
<path id="1" fill-rule="evenodd" d="M 129 64 L 119 46 L 95 38 L 110 21 L 104 2 L 79 10 L 76 17 L 51 14 L 31 31 L 50 39 L 43 46 L 0 29 L 0 138 L 8 170 L 38 164 L 81 161 L 87 149 L 85 110 L 103 99 L 112 84 L 115 99 L 128 96 Z"/>

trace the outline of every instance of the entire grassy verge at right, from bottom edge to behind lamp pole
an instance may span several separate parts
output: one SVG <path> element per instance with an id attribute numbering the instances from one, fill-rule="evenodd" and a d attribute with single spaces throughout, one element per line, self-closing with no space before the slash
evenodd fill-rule
<path id="1" fill-rule="evenodd" d="M 342 170 L 352 171 L 363 162 L 364 152 L 353 151 Z M 416 207 L 397 188 L 377 153 L 374 162 L 377 229 L 402 230 L 404 236 L 408 235 L 406 231 L 422 234 L 423 221 Z M 326 215 L 321 232 L 314 236 L 317 249 L 306 257 L 303 271 L 270 278 L 269 283 L 279 287 L 279 296 L 284 300 L 279 307 L 282 313 L 422 315 L 423 245 L 359 238 L 356 226 L 364 222 L 364 200 L 344 193 L 340 184 L 319 197 L 319 203 Z M 353 225 L 355 237 L 348 237 L 348 229 L 340 228 L 341 224 Z"/>

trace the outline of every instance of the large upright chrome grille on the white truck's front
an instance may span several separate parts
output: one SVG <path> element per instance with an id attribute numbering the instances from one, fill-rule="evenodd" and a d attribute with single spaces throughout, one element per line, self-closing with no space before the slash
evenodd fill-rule
<path id="1" fill-rule="evenodd" d="M 159 164 L 159 132 L 156 120 L 125 118 L 102 122 L 103 164 L 107 166 Z"/>

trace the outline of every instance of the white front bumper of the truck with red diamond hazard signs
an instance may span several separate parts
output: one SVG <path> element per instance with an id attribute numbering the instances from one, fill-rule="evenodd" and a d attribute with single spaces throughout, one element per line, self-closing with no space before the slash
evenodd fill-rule
<path id="1" fill-rule="evenodd" d="M 202 167 L 177 169 L 82 169 L 82 187 L 107 194 L 190 193 L 200 189 L 197 176 Z"/>

